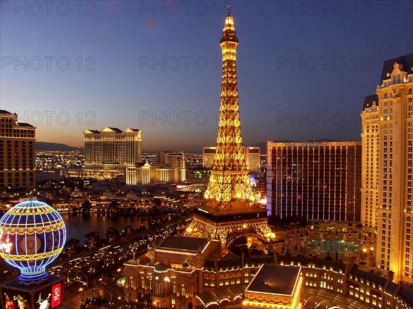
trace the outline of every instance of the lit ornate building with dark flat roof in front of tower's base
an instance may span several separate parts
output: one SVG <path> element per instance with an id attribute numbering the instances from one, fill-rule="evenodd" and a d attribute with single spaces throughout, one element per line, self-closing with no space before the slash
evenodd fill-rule
<path id="1" fill-rule="evenodd" d="M 220 242 L 167 236 L 149 244 L 145 258 L 125 263 L 125 297 L 153 307 L 187 308 L 202 292 L 202 267 L 216 258 Z"/>

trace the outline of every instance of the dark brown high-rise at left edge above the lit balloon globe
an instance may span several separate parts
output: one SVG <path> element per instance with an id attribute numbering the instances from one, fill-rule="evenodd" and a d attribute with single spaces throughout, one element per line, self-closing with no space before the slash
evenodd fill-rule
<path id="1" fill-rule="evenodd" d="M 36 186 L 36 128 L 0 110 L 0 190 Z"/>

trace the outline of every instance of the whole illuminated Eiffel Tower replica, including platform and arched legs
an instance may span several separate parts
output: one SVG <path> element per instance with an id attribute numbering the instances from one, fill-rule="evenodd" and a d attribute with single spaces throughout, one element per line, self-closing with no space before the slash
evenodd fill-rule
<path id="1" fill-rule="evenodd" d="M 220 45 L 222 87 L 217 147 L 204 202 L 193 209 L 193 220 L 186 234 L 219 239 L 229 247 L 242 236 L 266 241 L 274 234 L 267 225 L 266 209 L 255 201 L 246 170 L 238 105 L 238 38 L 231 14 L 226 17 Z"/>

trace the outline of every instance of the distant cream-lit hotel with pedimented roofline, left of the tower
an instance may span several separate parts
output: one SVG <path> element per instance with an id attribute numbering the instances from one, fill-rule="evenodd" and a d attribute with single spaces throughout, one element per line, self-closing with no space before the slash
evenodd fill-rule
<path id="1" fill-rule="evenodd" d="M 101 131 L 85 130 L 84 176 L 114 178 L 142 161 L 142 131 L 106 127 Z"/>

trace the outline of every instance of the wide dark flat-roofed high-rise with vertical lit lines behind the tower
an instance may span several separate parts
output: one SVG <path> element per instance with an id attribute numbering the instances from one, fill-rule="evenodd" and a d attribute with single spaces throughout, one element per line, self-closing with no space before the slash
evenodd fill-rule
<path id="1" fill-rule="evenodd" d="M 297 220 L 360 221 L 361 143 L 268 141 L 267 209 Z"/>

